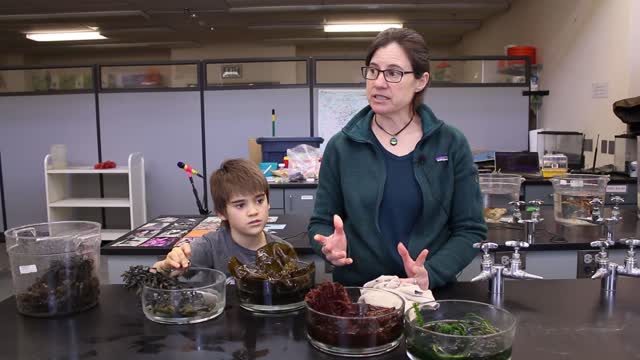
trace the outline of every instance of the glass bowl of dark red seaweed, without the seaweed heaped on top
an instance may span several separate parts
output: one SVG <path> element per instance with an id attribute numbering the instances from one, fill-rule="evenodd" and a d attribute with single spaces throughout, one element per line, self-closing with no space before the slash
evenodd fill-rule
<path id="1" fill-rule="evenodd" d="M 320 351 L 341 356 L 379 355 L 397 347 L 402 338 L 404 299 L 382 289 L 345 289 L 352 301 L 351 309 L 362 315 L 335 316 L 307 304 L 307 337 L 311 344 Z M 369 296 L 376 301 L 369 301 Z M 380 299 L 384 301 L 378 301 Z M 371 305 L 393 308 L 393 311 L 364 315 Z"/>

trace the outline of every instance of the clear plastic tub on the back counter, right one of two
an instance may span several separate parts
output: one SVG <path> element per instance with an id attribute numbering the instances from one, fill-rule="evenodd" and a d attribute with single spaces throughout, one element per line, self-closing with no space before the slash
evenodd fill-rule
<path id="1" fill-rule="evenodd" d="M 609 183 L 608 175 L 566 174 L 551 179 L 553 214 L 556 222 L 567 225 L 593 225 L 584 220 L 591 216 L 591 200 L 603 202 Z"/>

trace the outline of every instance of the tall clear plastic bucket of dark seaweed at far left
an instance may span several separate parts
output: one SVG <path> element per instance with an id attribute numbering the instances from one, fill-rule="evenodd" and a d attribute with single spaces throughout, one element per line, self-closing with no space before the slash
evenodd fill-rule
<path id="1" fill-rule="evenodd" d="M 62 316 L 98 303 L 100 227 L 95 222 L 62 221 L 5 232 L 18 312 Z"/>

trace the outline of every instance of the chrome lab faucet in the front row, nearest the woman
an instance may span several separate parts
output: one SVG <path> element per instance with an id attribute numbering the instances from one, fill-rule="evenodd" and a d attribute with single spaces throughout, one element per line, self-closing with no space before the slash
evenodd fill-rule
<path id="1" fill-rule="evenodd" d="M 524 241 L 507 241 L 505 245 L 513 247 L 513 256 L 511 258 L 510 268 L 505 268 L 502 264 L 494 264 L 493 255 L 489 253 L 492 249 L 497 249 L 498 244 L 492 242 L 475 243 L 473 247 L 481 249 L 482 255 L 482 271 L 480 274 L 471 279 L 471 282 L 489 280 L 489 291 L 492 294 L 504 293 L 504 278 L 511 279 L 542 279 L 541 276 L 533 275 L 520 269 L 522 264 L 520 253 L 521 247 L 528 247 L 529 244 Z"/>

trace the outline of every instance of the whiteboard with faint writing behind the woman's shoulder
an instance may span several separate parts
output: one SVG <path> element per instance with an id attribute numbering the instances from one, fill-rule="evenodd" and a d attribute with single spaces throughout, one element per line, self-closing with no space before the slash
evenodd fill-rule
<path id="1" fill-rule="evenodd" d="M 319 89 L 318 136 L 324 139 L 320 149 L 324 151 L 329 139 L 368 104 L 365 89 Z"/>

